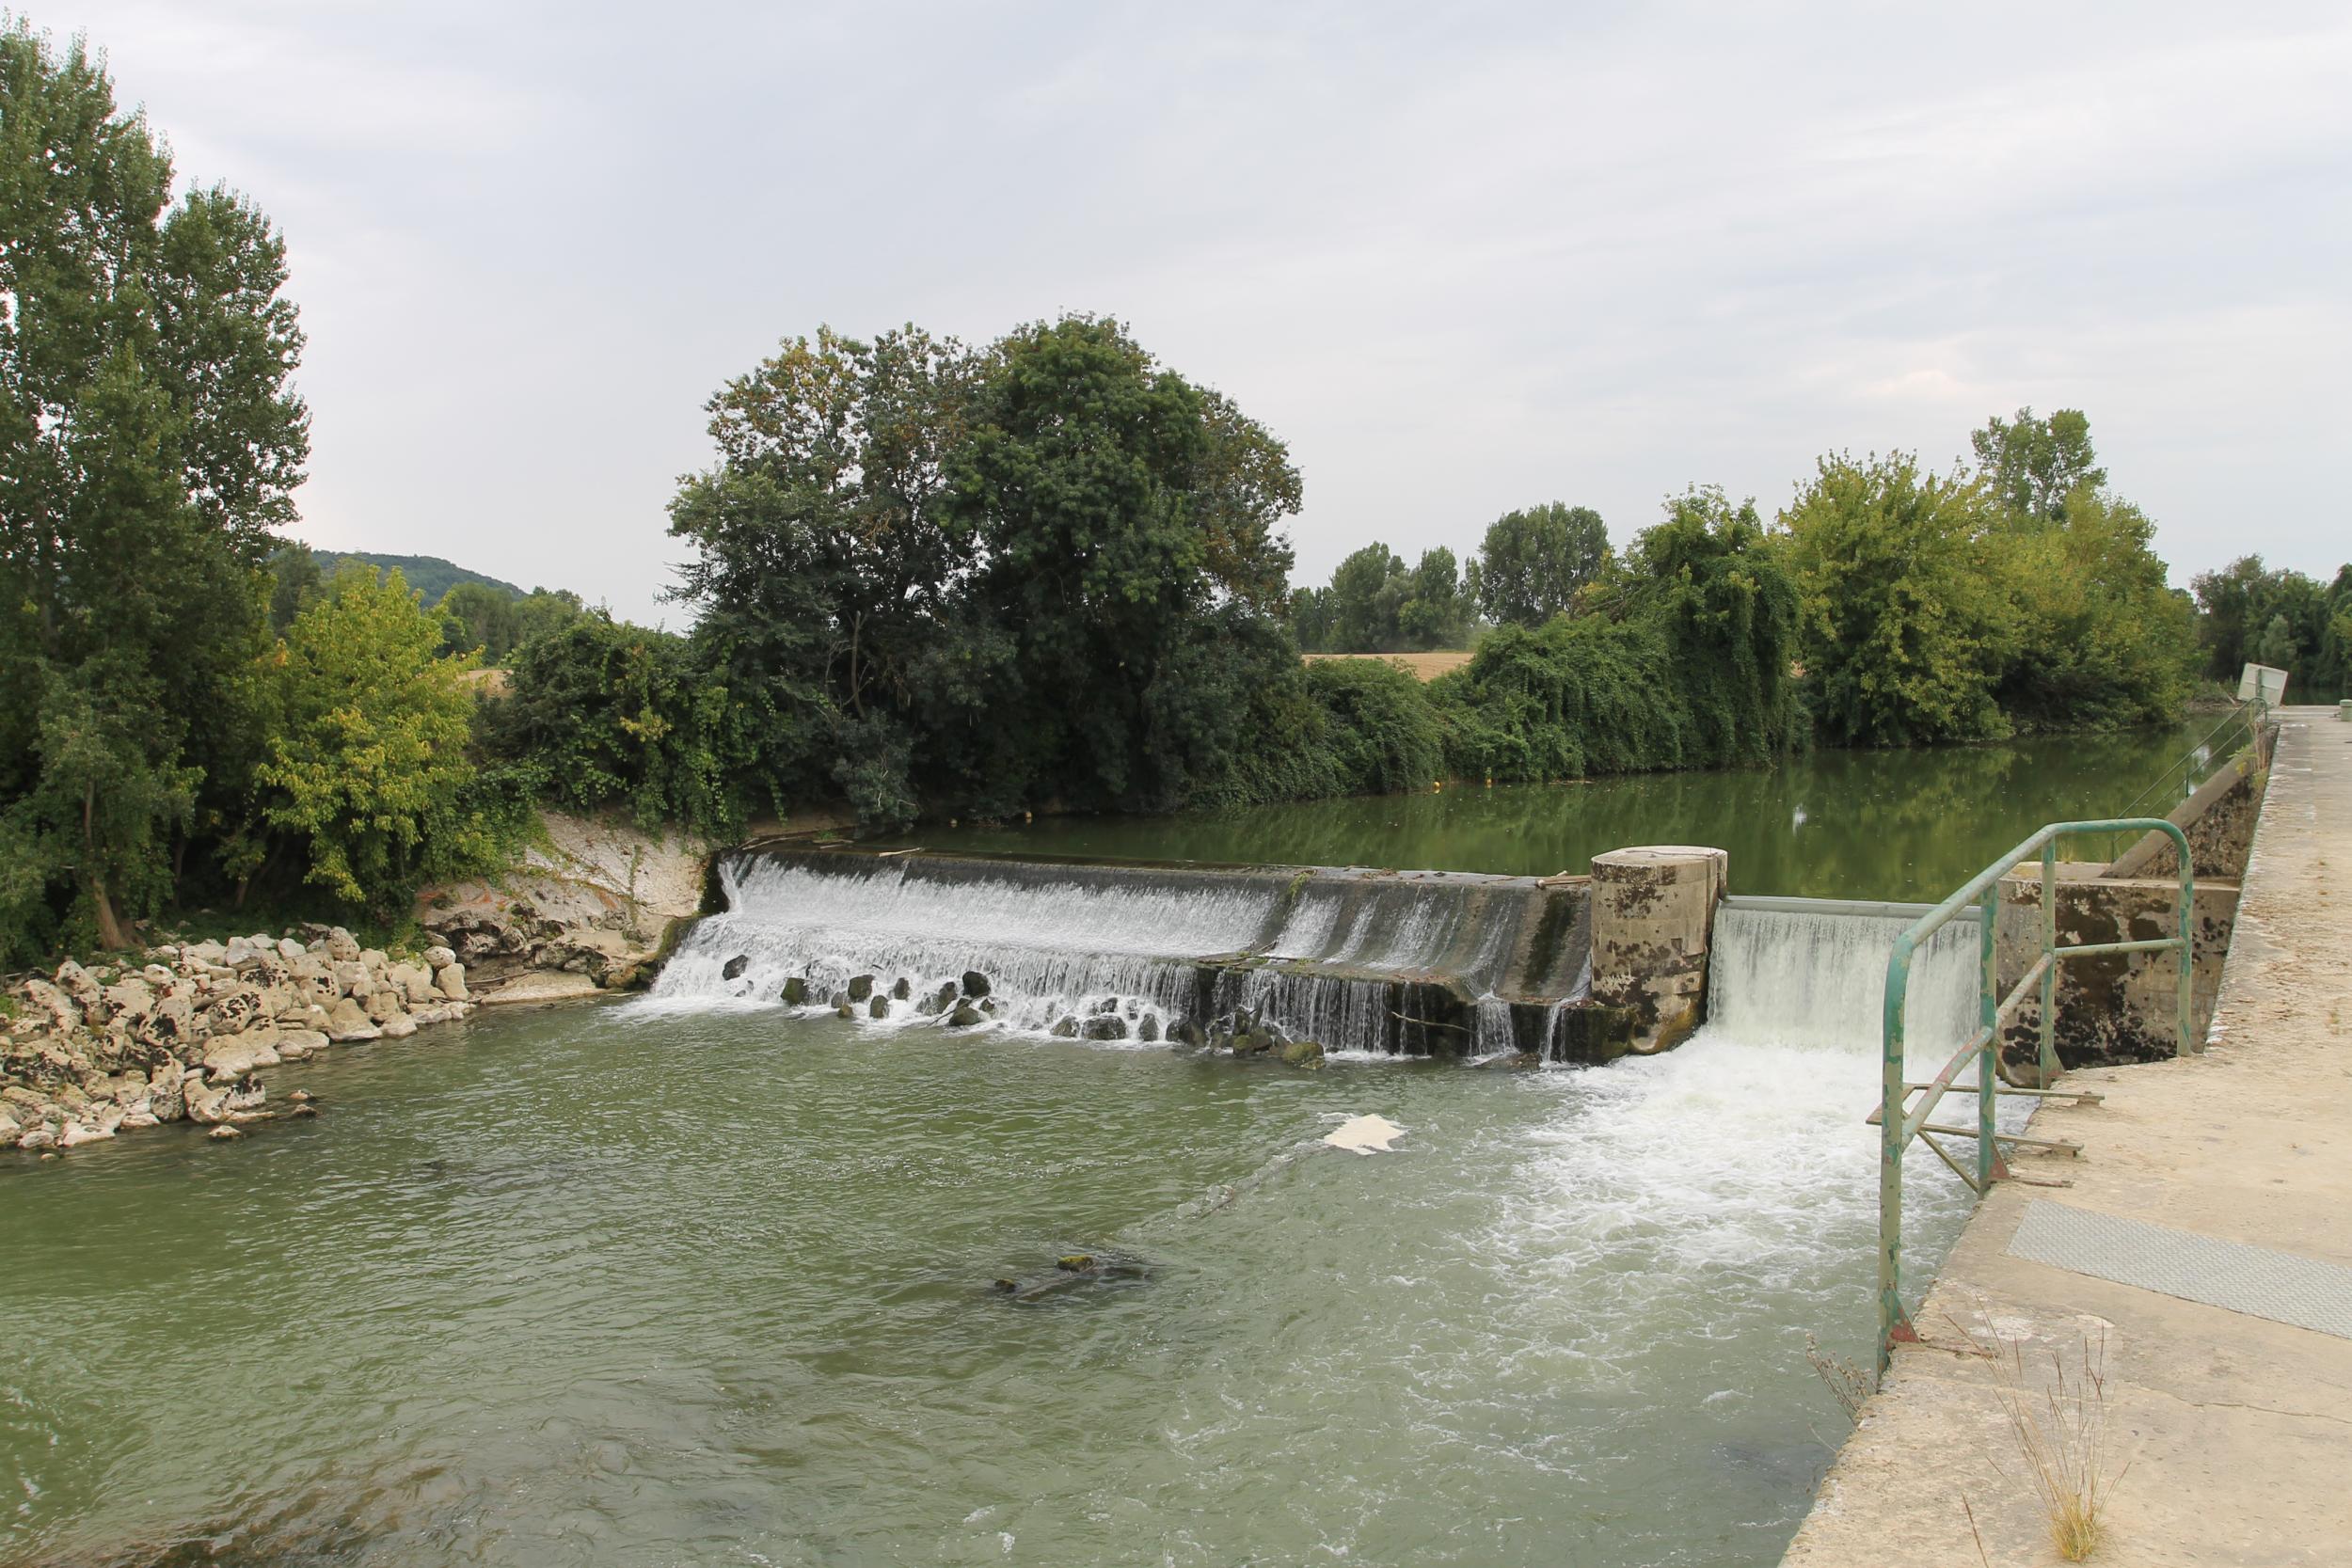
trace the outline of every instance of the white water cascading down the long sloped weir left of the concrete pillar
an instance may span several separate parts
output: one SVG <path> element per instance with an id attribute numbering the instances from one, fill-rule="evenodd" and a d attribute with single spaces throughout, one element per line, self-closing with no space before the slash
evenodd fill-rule
<path id="1" fill-rule="evenodd" d="M 807 1006 L 910 1025 L 978 973 L 971 1001 L 1025 1032 L 1155 1041 L 1249 1016 L 1331 1051 L 1489 1053 L 1515 1006 L 1590 973 L 1583 891 L 1524 877 L 802 851 L 720 879 L 727 912 L 687 936 L 659 1001 L 776 1001 L 797 980 Z"/>

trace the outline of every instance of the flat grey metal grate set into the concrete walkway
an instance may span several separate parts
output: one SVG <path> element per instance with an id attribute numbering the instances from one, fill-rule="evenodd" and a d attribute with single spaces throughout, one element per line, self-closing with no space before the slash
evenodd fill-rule
<path id="1" fill-rule="evenodd" d="M 2034 1199 L 2009 1255 L 2352 1340 L 2352 1269 Z"/>

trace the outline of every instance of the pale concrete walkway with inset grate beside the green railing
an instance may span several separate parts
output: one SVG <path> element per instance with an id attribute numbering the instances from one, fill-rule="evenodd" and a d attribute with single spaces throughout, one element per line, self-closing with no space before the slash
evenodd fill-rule
<path id="1" fill-rule="evenodd" d="M 1929 1342 L 1898 1347 L 1788 1563 L 2058 1561 L 1971 1340 L 2016 1345 L 2030 1389 L 2053 1356 L 2103 1356 L 2093 1563 L 2352 1563 L 2352 1338 L 2293 1326 L 2340 1321 L 2352 1286 L 2352 724 L 2281 719 L 2209 1051 L 2065 1079 L 2105 1103 L 2032 1131 L 2082 1159 L 2025 1157 L 1978 1208 L 1919 1312 Z"/>

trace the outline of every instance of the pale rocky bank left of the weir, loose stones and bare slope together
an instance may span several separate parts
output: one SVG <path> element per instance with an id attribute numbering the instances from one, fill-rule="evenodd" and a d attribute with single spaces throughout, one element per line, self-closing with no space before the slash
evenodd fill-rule
<path id="1" fill-rule="evenodd" d="M 193 1121 L 235 1138 L 278 1110 L 256 1077 L 332 1046 L 407 1039 L 494 1001 L 564 1001 L 652 980 L 701 905 L 706 849 L 546 818 L 496 882 L 428 889 L 414 954 L 341 926 L 165 943 L 0 990 L 0 1150 L 56 1154 Z"/>

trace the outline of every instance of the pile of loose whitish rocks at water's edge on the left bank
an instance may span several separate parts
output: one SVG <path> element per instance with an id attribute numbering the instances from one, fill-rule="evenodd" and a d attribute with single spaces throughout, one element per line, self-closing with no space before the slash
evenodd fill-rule
<path id="1" fill-rule="evenodd" d="M 310 945 L 235 936 L 7 990 L 0 1150 L 71 1150 L 162 1121 L 268 1117 L 256 1067 L 329 1044 L 405 1039 L 473 1011 L 449 947 L 395 961 L 341 926 Z"/>

